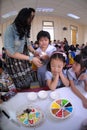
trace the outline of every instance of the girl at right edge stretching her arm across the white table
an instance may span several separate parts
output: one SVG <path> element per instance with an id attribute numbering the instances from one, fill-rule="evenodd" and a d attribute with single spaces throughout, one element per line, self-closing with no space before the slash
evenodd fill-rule
<path id="1" fill-rule="evenodd" d="M 87 98 L 76 87 L 76 85 L 84 83 L 85 91 L 87 91 L 87 55 L 76 55 L 72 68 L 68 70 L 68 78 L 72 91 L 82 100 L 83 106 L 87 108 Z"/>

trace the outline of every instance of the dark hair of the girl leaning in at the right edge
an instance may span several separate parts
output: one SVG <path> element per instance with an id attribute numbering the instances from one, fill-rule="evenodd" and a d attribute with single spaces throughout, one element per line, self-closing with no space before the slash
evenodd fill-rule
<path id="1" fill-rule="evenodd" d="M 87 56 L 84 58 L 82 54 L 76 55 L 74 61 L 81 65 L 81 69 L 87 69 Z"/>

